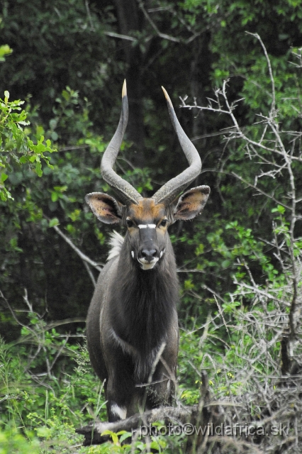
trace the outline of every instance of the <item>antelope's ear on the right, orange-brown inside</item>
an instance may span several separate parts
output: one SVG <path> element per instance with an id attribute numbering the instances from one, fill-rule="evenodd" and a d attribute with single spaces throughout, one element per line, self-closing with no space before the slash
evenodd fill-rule
<path id="1" fill-rule="evenodd" d="M 206 205 L 210 191 L 211 189 L 208 186 L 198 186 L 182 194 L 173 210 L 175 221 L 177 219 L 187 221 L 200 214 L 203 206 Z"/>

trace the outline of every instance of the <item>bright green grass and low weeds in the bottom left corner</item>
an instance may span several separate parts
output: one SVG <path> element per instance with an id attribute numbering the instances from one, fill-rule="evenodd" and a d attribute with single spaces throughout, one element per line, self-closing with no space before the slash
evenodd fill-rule
<path id="1" fill-rule="evenodd" d="M 1 452 L 14 452 L 9 447 L 15 445 L 16 453 L 28 453 L 30 448 L 37 453 L 73 452 L 72 444 L 82 439 L 74 426 L 96 416 L 104 418 L 102 386 L 87 369 L 86 348 L 67 341 L 68 336 L 61 336 L 34 312 L 28 313 L 17 343 L 1 341 Z M 67 363 L 64 358 L 69 358 Z M 46 375 L 37 372 L 43 365 Z M 64 372 L 57 375 L 60 370 Z"/>

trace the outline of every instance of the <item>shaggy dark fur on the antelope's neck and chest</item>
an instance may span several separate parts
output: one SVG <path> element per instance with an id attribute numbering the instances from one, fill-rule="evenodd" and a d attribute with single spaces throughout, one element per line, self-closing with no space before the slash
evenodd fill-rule
<path id="1" fill-rule="evenodd" d="M 166 253 L 152 270 L 141 270 L 125 237 L 112 289 L 111 323 L 116 334 L 142 355 L 165 341 L 179 298 L 176 263 L 168 238 Z"/>

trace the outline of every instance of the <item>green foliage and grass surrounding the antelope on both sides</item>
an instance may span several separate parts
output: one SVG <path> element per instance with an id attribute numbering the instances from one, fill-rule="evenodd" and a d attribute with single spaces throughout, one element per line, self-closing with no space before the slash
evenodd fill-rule
<path id="1" fill-rule="evenodd" d="M 91 214 L 84 195 L 110 191 L 99 163 L 118 122 L 121 81 L 133 65 L 140 67 L 135 102 L 144 107 L 150 153 L 141 153 L 140 168 L 133 165 L 137 150 L 125 135 L 116 170 L 141 194 L 152 194 L 186 165 L 172 143 L 159 82 L 176 109 L 177 96 L 186 92 L 198 105 L 210 97 L 214 108 L 225 109 L 221 90 L 217 101 L 213 87 L 230 78 L 225 87 L 241 131 L 223 112 L 177 111 L 188 135 L 201 137 L 194 141 L 203 159 L 196 185 L 212 189 L 201 218 L 171 228 L 181 280 L 177 399 L 196 404 L 206 370 L 218 399 L 252 396 L 254 417 L 264 405 L 257 396 L 267 387 L 274 394 L 280 375 L 284 326 L 301 290 L 301 1 L 139 5 L 140 29 L 127 32 L 134 41 L 113 38 L 121 24 L 110 1 L 1 6 L 1 40 L 8 45 L 0 47 L 0 82 L 26 104 L 23 110 L 23 101 L 9 101 L 9 92 L 0 101 L 0 321 L 6 339 L 0 453 L 184 451 L 184 436 L 130 446 L 127 434 L 109 433 L 104 445 L 82 448 L 74 432 L 96 417 L 106 419 L 102 384 L 91 372 L 78 324 L 97 273 L 86 272 L 59 231 L 94 262 L 106 261 L 110 229 Z M 143 8 L 151 21 L 143 20 Z M 259 33 L 267 55 L 245 31 Z M 139 50 L 135 59 L 130 46 Z M 135 109 L 130 123 L 131 116 Z M 55 150 L 50 140 L 58 153 L 49 154 Z M 301 356 L 297 333 L 293 358 Z"/>

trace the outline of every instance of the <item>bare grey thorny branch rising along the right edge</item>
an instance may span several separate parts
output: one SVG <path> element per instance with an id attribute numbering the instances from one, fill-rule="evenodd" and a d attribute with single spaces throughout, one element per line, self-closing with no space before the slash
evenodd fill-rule
<path id="1" fill-rule="evenodd" d="M 301 209 L 297 211 L 298 204 L 301 204 L 302 195 L 301 192 L 298 194 L 298 185 L 296 184 L 296 178 L 299 177 L 297 173 L 295 175 L 296 167 L 293 167 L 293 162 L 301 162 L 301 151 L 300 148 L 295 146 L 296 140 L 299 140 L 300 133 L 295 131 L 282 131 L 281 124 L 278 120 L 278 110 L 276 108 L 276 89 L 274 82 L 274 74 L 272 65 L 269 60 L 267 49 L 264 46 L 261 38 L 257 33 L 249 33 L 253 37 L 257 38 L 260 45 L 262 46 L 264 55 L 267 60 L 267 68 L 269 72 L 269 79 L 271 81 L 271 93 L 269 96 L 272 101 L 269 106 L 267 115 L 259 114 L 259 121 L 255 123 L 259 131 L 259 140 L 255 139 L 255 136 L 250 135 L 245 128 L 241 128 L 237 122 L 235 115 L 235 109 L 242 99 L 237 99 L 233 103 L 230 103 L 227 95 L 228 81 L 223 82 L 221 89 L 216 89 L 215 96 L 213 99 L 208 98 L 207 106 L 198 106 L 196 99 L 194 104 L 186 104 L 186 97 L 181 99 L 181 106 L 187 109 L 200 109 L 216 112 L 217 114 L 224 114 L 231 120 L 230 128 L 224 130 L 224 138 L 228 142 L 230 140 L 240 140 L 245 144 L 245 151 L 247 157 L 254 162 L 257 162 L 259 166 L 259 172 L 255 175 L 255 181 L 247 181 L 242 175 L 238 175 L 236 172 L 232 172 L 232 175 L 240 182 L 244 183 L 248 187 L 255 189 L 257 194 L 265 196 L 267 199 L 271 199 L 277 205 L 283 206 L 288 212 L 286 214 L 286 221 L 289 222 L 289 228 L 279 229 L 276 223 L 273 225 L 274 239 L 270 242 L 272 248 L 274 248 L 275 257 L 281 264 L 281 269 L 284 271 L 284 276 L 287 284 L 284 284 L 284 292 L 287 295 L 286 301 L 281 301 L 284 307 L 283 322 L 281 325 L 283 328 L 279 331 L 279 341 L 283 344 L 281 348 L 281 360 L 283 363 L 282 373 L 291 373 L 294 365 L 294 347 L 298 341 L 298 333 L 301 333 L 301 326 L 299 321 L 299 314 L 302 305 L 302 300 L 298 294 L 298 284 L 301 280 L 302 264 L 301 254 L 298 252 L 298 241 L 300 238 L 295 236 L 296 222 L 301 220 Z M 299 57 L 299 55 L 297 55 Z M 300 55 L 301 57 L 301 55 Z M 302 59 L 300 58 L 300 61 Z M 298 65 L 298 67 L 300 67 Z M 262 128 L 262 132 L 261 132 Z M 287 182 L 289 188 L 284 191 L 284 194 L 276 194 L 275 189 L 272 185 L 272 191 L 269 194 L 267 190 L 263 189 L 262 184 L 259 184 L 260 179 L 271 178 L 275 179 L 284 174 L 287 174 Z M 277 194 L 278 194 L 277 193 Z M 276 289 L 276 294 L 273 294 L 272 288 L 269 292 L 258 286 L 255 279 L 252 277 L 250 270 L 247 270 L 247 275 L 250 277 L 251 285 L 244 282 L 237 282 L 237 292 L 243 297 L 248 294 L 256 294 L 259 301 L 275 301 L 275 304 L 279 304 L 280 292 Z M 286 287 L 287 286 L 287 287 Z M 285 312 L 285 308 L 289 311 Z M 301 343 L 301 341 L 298 341 Z M 286 364 L 286 367 L 284 365 Z"/>

